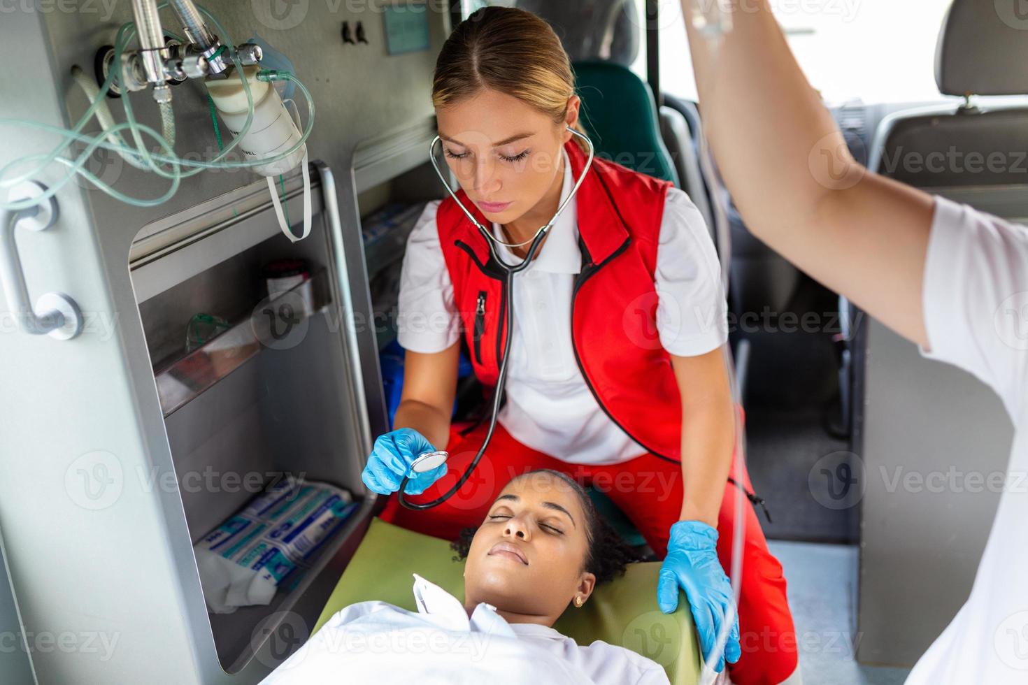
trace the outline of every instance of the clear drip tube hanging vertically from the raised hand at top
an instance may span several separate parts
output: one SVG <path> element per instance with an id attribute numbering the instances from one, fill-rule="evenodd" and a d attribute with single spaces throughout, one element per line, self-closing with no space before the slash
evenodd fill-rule
<path id="1" fill-rule="evenodd" d="M 696 34 L 707 43 L 711 62 L 717 62 L 721 51 L 722 43 L 728 33 L 732 31 L 732 0 L 683 0 L 683 9 L 688 7 L 687 22 L 691 22 Z M 718 168 L 713 163 L 713 156 L 710 152 L 710 144 L 705 131 L 701 131 L 699 162 L 703 177 L 707 180 L 710 189 L 710 203 L 713 210 L 714 233 L 718 236 L 719 257 L 721 261 L 722 288 L 727 295 L 729 288 L 729 269 L 731 268 L 732 256 L 732 232 L 728 220 L 728 195 L 725 191 L 724 183 L 718 174 Z M 728 373 L 729 382 L 732 388 L 732 399 L 735 407 L 742 407 L 741 391 L 738 378 L 735 374 L 735 363 L 732 358 L 731 348 L 724 347 L 725 369 Z M 744 483 L 741 478 L 746 463 L 745 456 L 746 440 L 745 427 L 742 424 L 742 417 L 739 412 L 735 412 L 735 450 L 733 454 L 732 477 L 736 482 L 734 522 L 732 530 L 732 551 L 731 563 L 729 564 L 729 579 L 732 583 L 732 595 L 734 602 L 726 608 L 721 629 L 714 640 L 712 654 L 724 654 L 725 646 L 728 644 L 729 632 L 732 623 L 738 616 L 739 595 L 742 587 L 742 550 L 745 542 L 746 532 L 746 494 L 743 490 Z M 741 631 L 740 631 L 741 638 Z M 703 654 L 704 668 L 700 674 L 700 685 L 712 685 L 720 677 L 710 668 L 714 659 L 712 654 Z M 723 670 L 727 674 L 728 668 Z"/>

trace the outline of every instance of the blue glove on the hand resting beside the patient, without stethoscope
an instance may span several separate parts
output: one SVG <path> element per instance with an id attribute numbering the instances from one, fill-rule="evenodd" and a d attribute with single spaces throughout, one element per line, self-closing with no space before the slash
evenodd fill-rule
<path id="1" fill-rule="evenodd" d="M 725 610 L 735 603 L 735 598 L 732 583 L 718 561 L 718 531 L 702 521 L 680 521 L 671 526 L 667 557 L 657 582 L 657 604 L 664 613 L 674 613 L 678 608 L 678 587 L 686 591 L 703 658 L 709 658 L 707 665 L 721 673 L 725 659 L 735 663 L 742 654 L 739 619 L 733 612 L 725 653 L 710 654 L 725 620 Z"/>

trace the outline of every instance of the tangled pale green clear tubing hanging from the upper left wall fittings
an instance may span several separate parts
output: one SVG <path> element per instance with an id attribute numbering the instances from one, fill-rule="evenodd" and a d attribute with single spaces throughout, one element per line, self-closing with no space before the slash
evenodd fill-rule
<path id="1" fill-rule="evenodd" d="M 168 3 L 162 3 L 160 5 L 160 8 L 167 6 Z M 224 27 L 222 27 L 220 23 L 218 23 L 217 18 L 215 18 L 208 10 L 204 9 L 203 7 L 200 7 L 199 9 L 205 15 L 208 16 L 208 18 L 211 20 L 211 23 L 217 28 L 217 30 L 220 32 L 220 35 L 226 37 L 227 41 L 228 32 L 225 31 Z M 121 52 L 127 45 L 128 41 L 133 38 L 134 31 L 135 27 L 132 23 L 123 25 L 118 31 L 114 45 L 115 64 L 120 64 Z M 230 41 L 228 44 L 229 45 L 231 44 Z M 259 160 L 224 161 L 224 157 L 229 152 L 231 152 L 232 149 L 235 148 L 235 146 L 238 144 L 238 141 L 243 138 L 243 135 L 245 135 L 249 130 L 250 125 L 253 122 L 253 97 L 250 92 L 249 84 L 243 73 L 242 63 L 240 62 L 238 55 L 235 53 L 234 49 L 229 48 L 229 52 L 231 54 L 232 62 L 236 67 L 236 72 L 240 74 L 240 78 L 243 83 L 243 89 L 247 93 L 247 99 L 250 103 L 250 112 L 248 113 L 247 120 L 244 124 L 241 135 L 235 139 L 233 139 L 228 145 L 226 145 L 225 148 L 221 150 L 221 152 L 218 155 L 216 155 L 213 159 L 209 161 L 182 159 L 181 157 L 176 155 L 171 145 L 168 144 L 169 141 L 164 140 L 164 138 L 161 135 L 158 135 L 152 128 L 140 124 L 139 122 L 136 121 L 133 115 L 132 104 L 127 97 L 122 99 L 122 104 L 125 110 L 125 118 L 126 118 L 126 122 L 124 124 L 118 124 L 113 127 L 105 127 L 105 130 L 100 136 L 82 134 L 81 130 L 85 126 L 85 124 L 93 118 L 94 115 L 98 113 L 98 111 L 101 109 L 102 106 L 106 105 L 102 97 L 97 97 L 96 99 L 93 99 L 89 108 L 78 120 L 75 126 L 73 126 L 71 129 L 67 129 L 60 126 L 53 126 L 49 124 L 40 124 L 34 121 L 27 121 L 21 119 L 0 119 L 0 124 L 15 124 L 15 125 L 38 128 L 41 130 L 46 130 L 48 132 L 57 134 L 58 136 L 61 136 L 63 139 L 65 139 L 63 143 L 57 145 L 48 153 L 27 155 L 25 157 L 9 162 L 3 168 L 0 168 L 0 188 L 10 187 L 22 181 L 28 180 L 33 176 L 42 172 L 45 167 L 47 167 L 54 161 L 58 161 L 59 163 L 69 167 L 68 174 L 66 174 L 63 178 L 61 178 L 57 183 L 50 185 L 47 188 L 46 192 L 40 195 L 39 197 L 35 197 L 29 200 L 22 200 L 17 202 L 0 202 L 0 207 L 12 211 L 20 211 L 28 208 L 34 204 L 37 204 L 38 202 L 44 200 L 45 198 L 51 197 L 54 194 L 57 194 L 57 192 L 72 178 L 74 178 L 76 174 L 83 177 L 85 180 L 89 181 L 90 183 L 96 185 L 99 189 L 108 193 L 115 199 L 118 199 L 128 204 L 135 204 L 137 206 L 152 206 L 156 203 L 167 201 L 172 195 L 174 195 L 174 192 L 167 192 L 163 195 L 161 195 L 160 198 L 154 198 L 154 199 L 136 198 L 124 195 L 123 193 L 114 190 L 113 188 L 104 183 L 98 183 L 99 180 L 94 175 L 89 174 L 83 168 L 84 164 L 88 161 L 88 156 L 93 153 L 93 151 L 97 147 L 102 147 L 104 149 L 117 152 L 118 154 L 124 156 L 126 159 L 132 158 L 137 162 L 134 165 L 152 170 L 158 174 L 159 176 L 170 179 L 172 181 L 174 189 L 176 190 L 182 178 L 194 176 L 195 174 L 198 174 L 207 168 L 247 168 L 247 167 L 267 164 L 269 162 L 274 162 L 279 159 L 283 159 L 291 155 L 306 142 L 307 138 L 309 138 L 310 132 L 314 129 L 314 120 L 315 120 L 314 98 L 310 96 L 310 91 L 306 88 L 306 86 L 304 86 L 303 83 L 300 82 L 299 79 L 297 79 L 293 74 L 265 70 L 258 73 L 258 78 L 267 81 L 289 80 L 290 82 L 294 83 L 297 86 L 297 88 L 303 94 L 307 103 L 307 125 L 304 128 L 304 131 L 301 134 L 299 141 L 293 146 L 291 146 L 289 149 L 279 153 L 278 155 L 273 155 L 267 158 L 262 158 Z M 108 74 L 107 79 L 104 81 L 103 85 L 99 88 L 98 96 L 107 92 L 107 89 L 110 87 L 111 83 L 113 82 L 113 79 L 116 77 L 117 74 L 118 70 L 116 69 L 112 70 L 110 74 Z M 103 127 L 103 123 L 101 125 Z M 119 134 L 121 130 L 125 129 L 127 129 L 132 135 L 135 147 L 131 147 L 124 144 L 120 136 L 116 137 L 116 140 L 118 142 L 116 143 L 111 142 L 110 139 L 112 135 Z M 159 144 L 158 147 L 160 148 L 160 150 L 158 152 L 150 152 L 150 150 L 147 149 L 143 141 L 143 135 L 157 139 Z M 67 149 L 68 146 L 71 145 L 71 143 L 74 141 L 85 143 L 87 146 L 86 150 L 82 154 L 80 154 L 74 161 L 66 159 L 64 157 L 60 157 L 62 152 L 64 152 L 65 149 Z M 13 167 L 16 167 L 19 165 L 24 165 L 29 162 L 38 162 L 38 163 L 32 166 L 29 170 L 24 172 L 17 176 L 14 177 L 9 176 L 9 173 Z M 163 168 L 161 164 L 167 164 L 169 168 Z M 190 167 L 190 170 L 183 172 L 182 167 Z"/>

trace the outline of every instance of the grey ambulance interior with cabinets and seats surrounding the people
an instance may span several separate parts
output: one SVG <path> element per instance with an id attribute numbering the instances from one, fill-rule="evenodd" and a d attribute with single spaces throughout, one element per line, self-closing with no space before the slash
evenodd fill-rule
<path id="1" fill-rule="evenodd" d="M 194 32 L 182 31 L 168 4 L 192 3 L 5 13 L 3 121 L 40 125 L 4 125 L 2 163 L 52 149 L 60 139 L 43 126 L 75 126 L 90 103 L 82 74 L 94 89 L 103 85 L 119 29 L 140 11 L 159 16 L 168 44 L 185 55 L 169 89 L 175 150 L 217 155 L 231 132 L 212 119 L 215 103 L 190 73 L 200 64 L 186 49 Z M 444 195 L 428 157 L 435 56 L 455 23 L 484 4 L 212 1 L 206 11 L 226 43 L 262 46 L 260 60 L 252 48 L 240 59 L 295 73 L 308 90 L 309 102 L 291 81 L 270 86 L 294 101 L 299 131 L 316 117 L 303 162 L 268 180 L 225 167 L 173 183 L 97 147 L 84 168 L 115 191 L 177 190 L 140 206 L 73 175 L 51 200 L 47 230 L 4 236 L 4 290 L 22 282 L 32 301 L 44 293 L 74 301 L 80 331 L 29 335 L 10 298 L 0 305 L 0 632 L 10 636 L 0 682 L 252 685 L 310 635 L 383 505 L 361 470 L 402 387 L 405 240 L 426 202 Z M 758 506 L 784 567 L 804 680 L 903 682 L 974 579 L 999 495 L 987 477 L 1003 471 L 1012 435 L 999 401 L 969 375 L 923 359 L 747 231 L 704 161 L 680 3 L 492 4 L 553 25 L 576 65 L 597 154 L 673 182 L 711 227 L 728 274 L 746 459 L 763 498 L 746 505 Z M 773 4 L 858 161 L 1026 218 L 1017 168 L 1025 160 L 1007 155 L 992 168 L 972 157 L 1028 150 L 1028 93 L 1011 91 L 982 49 L 1009 29 L 992 2 Z M 132 116 L 167 131 L 146 66 L 138 92 L 103 93 L 105 107 L 113 123 Z M 938 81 L 960 69 L 961 83 L 981 82 L 966 97 Z M 620 106 L 623 98 L 633 106 Z M 107 135 L 94 118 L 82 130 Z M 131 140 L 128 129 L 121 136 Z M 86 145 L 72 142 L 66 158 Z M 933 154 L 963 155 L 963 166 L 939 173 Z M 66 174 L 67 164 L 50 164 L 31 180 L 49 187 Z M 309 234 L 287 239 L 283 223 Z M 456 420 L 484 411 L 481 387 L 465 373 Z M 985 474 L 985 487 L 946 485 L 967 471 Z M 199 571 L 210 560 L 196 549 L 256 493 L 297 479 L 324 484 L 339 504 L 331 533 L 264 588 L 265 603 L 215 610 Z M 616 507 L 595 499 L 625 539 L 642 544 Z M 383 572 L 390 554 L 381 553 Z M 364 555 L 373 568 L 374 553 Z M 64 650 L 41 640 L 65 634 L 118 644 Z M 689 654 L 695 660 L 695 646 Z M 673 682 L 698 682 L 685 660 Z"/>

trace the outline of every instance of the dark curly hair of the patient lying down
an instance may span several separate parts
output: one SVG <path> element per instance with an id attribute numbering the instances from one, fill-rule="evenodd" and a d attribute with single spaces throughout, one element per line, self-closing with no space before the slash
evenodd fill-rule
<path id="1" fill-rule="evenodd" d="M 596 584 L 623 575 L 625 567 L 628 564 L 639 561 L 639 555 L 622 540 L 614 529 L 611 528 L 610 524 L 599 516 L 596 507 L 592 504 L 592 499 L 589 498 L 589 494 L 574 479 L 551 468 L 537 468 L 517 478 L 525 478 L 533 473 L 555 475 L 568 484 L 575 490 L 575 494 L 578 495 L 582 509 L 585 511 L 585 535 L 589 545 L 585 556 L 584 570 L 596 576 Z M 475 537 L 477 530 L 477 526 L 465 528 L 461 531 L 461 535 L 456 540 L 450 543 L 450 546 L 457 554 L 453 558 L 454 561 L 461 561 L 468 557 L 468 551 L 471 549 L 471 538 Z"/>

